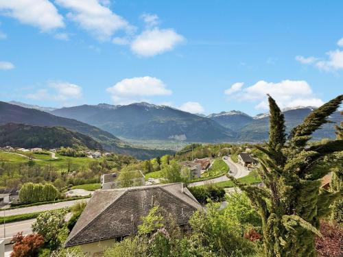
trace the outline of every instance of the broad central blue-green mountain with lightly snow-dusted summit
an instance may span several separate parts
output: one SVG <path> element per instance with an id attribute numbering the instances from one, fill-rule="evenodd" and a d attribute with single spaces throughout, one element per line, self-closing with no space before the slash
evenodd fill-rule
<path id="1" fill-rule="evenodd" d="M 53 110 L 60 117 L 78 119 L 123 138 L 216 142 L 233 140 L 226 127 L 168 106 L 132 103 L 128 106 L 75 106 Z"/>

